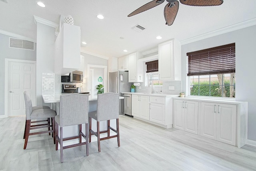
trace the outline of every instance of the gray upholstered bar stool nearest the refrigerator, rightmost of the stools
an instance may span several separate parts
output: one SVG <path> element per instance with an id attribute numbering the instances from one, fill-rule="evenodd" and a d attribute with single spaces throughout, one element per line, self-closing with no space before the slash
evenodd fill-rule
<path id="1" fill-rule="evenodd" d="M 89 113 L 89 125 L 90 125 L 90 137 L 91 142 L 92 134 L 98 139 L 98 151 L 100 152 L 100 141 L 104 139 L 110 139 L 117 137 L 118 147 L 120 147 L 119 138 L 119 94 L 118 93 L 102 93 L 98 94 L 97 111 Z M 97 121 L 97 132 L 92 130 L 92 118 Z M 110 127 L 110 120 L 116 119 L 116 129 Z M 100 121 L 108 121 L 108 128 L 106 131 L 100 131 Z M 116 135 L 110 136 L 110 129 L 116 133 Z M 107 137 L 100 138 L 101 133 L 108 133 Z"/>

